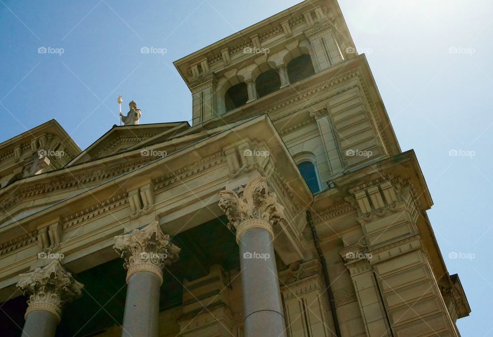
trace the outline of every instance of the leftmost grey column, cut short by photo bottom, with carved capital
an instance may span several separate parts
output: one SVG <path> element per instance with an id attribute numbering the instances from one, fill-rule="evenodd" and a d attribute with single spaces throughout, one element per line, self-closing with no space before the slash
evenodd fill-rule
<path id="1" fill-rule="evenodd" d="M 29 295 L 22 337 L 54 337 L 63 306 L 82 294 L 83 284 L 75 281 L 59 261 L 20 274 L 17 287 Z"/>

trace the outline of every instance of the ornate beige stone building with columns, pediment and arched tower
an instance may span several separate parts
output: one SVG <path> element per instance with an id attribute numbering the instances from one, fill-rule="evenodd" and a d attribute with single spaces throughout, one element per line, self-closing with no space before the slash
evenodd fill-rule
<path id="1" fill-rule="evenodd" d="M 335 0 L 175 66 L 192 125 L 0 144 L 0 335 L 460 336 L 424 176 Z"/>

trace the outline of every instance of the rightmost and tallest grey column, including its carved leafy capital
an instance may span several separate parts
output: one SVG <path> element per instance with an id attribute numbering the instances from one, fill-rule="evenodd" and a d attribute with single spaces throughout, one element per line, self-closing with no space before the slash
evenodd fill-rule
<path id="1" fill-rule="evenodd" d="M 286 337 L 272 231 L 284 208 L 269 193 L 265 177 L 253 179 L 236 192 L 223 190 L 219 200 L 240 246 L 244 335 Z"/>

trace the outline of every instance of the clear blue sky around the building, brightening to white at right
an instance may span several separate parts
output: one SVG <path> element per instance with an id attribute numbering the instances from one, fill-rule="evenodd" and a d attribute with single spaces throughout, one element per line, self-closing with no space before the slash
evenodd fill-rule
<path id="1" fill-rule="evenodd" d="M 119 94 L 125 112 L 138 103 L 141 123 L 190 120 L 191 95 L 173 61 L 296 3 L 1 0 L 0 141 L 56 118 L 84 149 L 119 123 Z M 435 235 L 472 308 L 458 322 L 461 333 L 493 335 L 493 3 L 339 3 L 402 150 L 418 155 Z M 42 47 L 63 53 L 40 54 Z"/>

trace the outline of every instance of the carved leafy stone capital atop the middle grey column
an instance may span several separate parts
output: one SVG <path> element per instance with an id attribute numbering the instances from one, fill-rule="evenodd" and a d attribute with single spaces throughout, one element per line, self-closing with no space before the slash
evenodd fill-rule
<path id="1" fill-rule="evenodd" d="M 139 271 L 149 271 L 163 281 L 162 269 L 178 260 L 180 248 L 163 234 L 158 221 L 153 221 L 142 229 L 134 229 L 129 234 L 115 236 L 113 248 L 125 260 L 123 267 L 129 277 Z"/>

